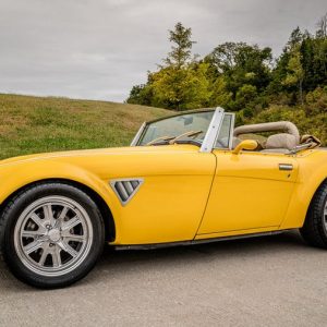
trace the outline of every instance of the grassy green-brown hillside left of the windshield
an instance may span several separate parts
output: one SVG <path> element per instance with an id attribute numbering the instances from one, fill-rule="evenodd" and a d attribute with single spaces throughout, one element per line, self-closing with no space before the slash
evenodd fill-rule
<path id="1" fill-rule="evenodd" d="M 0 94 L 0 159 L 128 145 L 142 122 L 169 113 L 136 105 Z"/>

